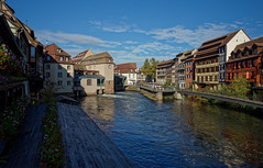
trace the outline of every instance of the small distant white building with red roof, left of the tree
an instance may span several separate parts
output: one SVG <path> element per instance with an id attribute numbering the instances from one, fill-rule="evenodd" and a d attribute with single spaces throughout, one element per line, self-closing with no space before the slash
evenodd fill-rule
<path id="1" fill-rule="evenodd" d="M 125 63 L 119 64 L 114 67 L 114 74 L 119 76 L 127 77 L 128 86 L 134 86 L 138 82 L 139 70 L 136 68 L 136 63 Z"/>

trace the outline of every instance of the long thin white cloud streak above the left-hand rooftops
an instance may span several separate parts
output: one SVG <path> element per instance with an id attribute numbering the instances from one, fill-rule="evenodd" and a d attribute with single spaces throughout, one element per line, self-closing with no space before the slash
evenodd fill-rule
<path id="1" fill-rule="evenodd" d="M 45 42 L 46 40 L 51 43 L 61 44 L 79 44 L 79 45 L 91 45 L 91 46 L 103 46 L 103 47 L 116 47 L 121 45 L 118 42 L 103 41 L 95 36 L 75 33 L 63 33 L 63 32 L 51 32 L 51 31 L 36 31 L 36 36 L 40 41 Z"/>

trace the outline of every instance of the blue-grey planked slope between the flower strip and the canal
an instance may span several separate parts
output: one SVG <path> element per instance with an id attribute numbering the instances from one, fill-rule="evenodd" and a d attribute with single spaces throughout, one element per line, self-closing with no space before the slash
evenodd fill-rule
<path id="1" fill-rule="evenodd" d="M 129 168 L 134 165 L 77 105 L 57 103 L 67 168 Z"/>

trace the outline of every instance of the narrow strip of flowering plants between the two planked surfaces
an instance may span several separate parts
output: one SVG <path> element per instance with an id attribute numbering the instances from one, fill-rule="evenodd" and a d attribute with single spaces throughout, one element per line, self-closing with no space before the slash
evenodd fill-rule
<path id="1" fill-rule="evenodd" d="M 43 119 L 44 142 L 42 146 L 41 167 L 63 168 L 65 165 L 64 146 L 58 125 L 58 114 L 54 97 L 50 98 L 47 113 Z"/>

